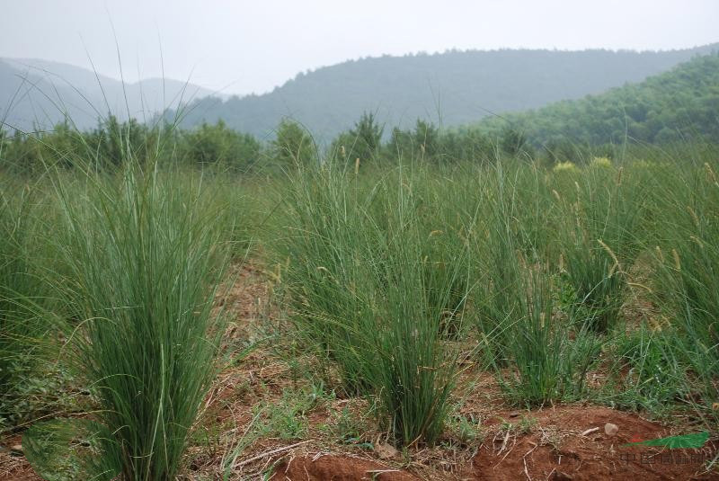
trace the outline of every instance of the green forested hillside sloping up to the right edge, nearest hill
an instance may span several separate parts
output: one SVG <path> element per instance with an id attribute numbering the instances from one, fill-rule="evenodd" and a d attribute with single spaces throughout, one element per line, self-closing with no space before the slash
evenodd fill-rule
<path id="1" fill-rule="evenodd" d="M 508 128 L 537 146 L 719 138 L 719 50 L 638 84 L 465 127 L 493 137 Z"/>

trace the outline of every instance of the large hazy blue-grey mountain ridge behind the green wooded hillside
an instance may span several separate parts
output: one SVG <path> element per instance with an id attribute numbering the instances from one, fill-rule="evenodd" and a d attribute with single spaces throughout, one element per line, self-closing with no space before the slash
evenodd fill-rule
<path id="1" fill-rule="evenodd" d="M 717 46 L 659 52 L 453 50 L 363 58 L 298 74 L 268 94 L 226 102 L 200 98 L 182 112 L 182 125 L 222 119 L 234 129 L 271 138 L 280 120 L 290 117 L 328 140 L 363 111 L 372 111 L 388 128 L 408 127 L 417 118 L 457 126 L 490 113 L 537 109 L 641 82 Z"/>

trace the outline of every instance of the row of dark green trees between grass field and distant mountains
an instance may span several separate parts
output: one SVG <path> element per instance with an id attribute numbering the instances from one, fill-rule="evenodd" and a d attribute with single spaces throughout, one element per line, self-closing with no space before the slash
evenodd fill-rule
<path id="1" fill-rule="evenodd" d="M 215 168 L 234 174 L 269 174 L 329 159 L 354 169 L 409 161 L 483 164 L 502 157 L 519 157 L 551 167 L 561 162 L 581 165 L 596 156 L 612 158 L 626 148 L 619 143 L 592 144 L 566 138 L 537 144 L 511 126 L 496 132 L 439 129 L 430 121 L 418 119 L 413 129 L 393 128 L 388 136 L 385 129 L 373 113 L 366 112 L 352 129 L 323 145 L 291 119 L 281 120 L 274 138 L 262 142 L 230 129 L 222 120 L 180 129 L 148 126 L 138 120 L 120 122 L 110 116 L 86 131 L 74 129 L 68 122 L 33 133 L 0 130 L 0 170 L 40 174 L 48 167 L 111 169 L 129 158 L 159 158 L 161 165 Z"/>

